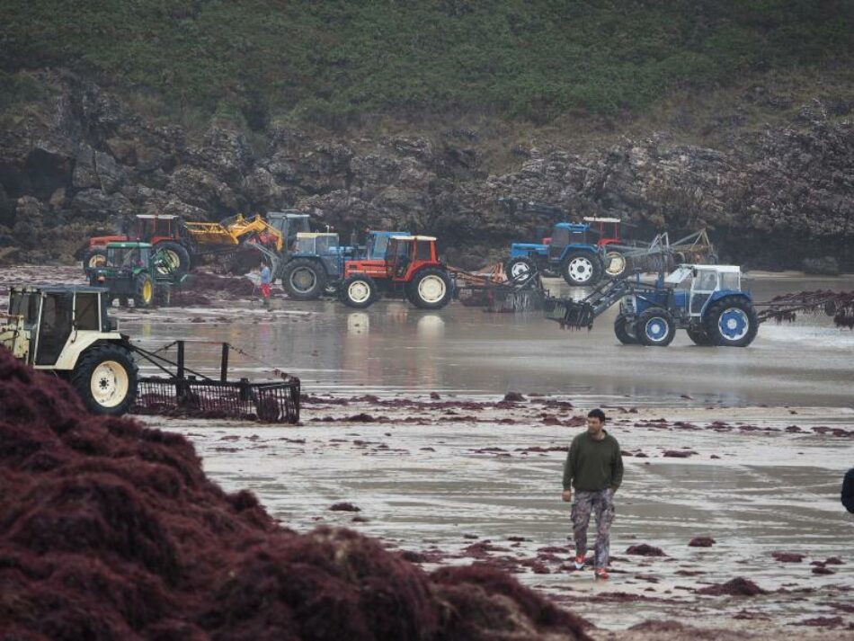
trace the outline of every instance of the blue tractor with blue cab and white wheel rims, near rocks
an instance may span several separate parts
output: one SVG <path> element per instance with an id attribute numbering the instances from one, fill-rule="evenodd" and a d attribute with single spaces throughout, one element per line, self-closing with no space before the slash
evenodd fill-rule
<path id="1" fill-rule="evenodd" d="M 555 272 L 571 286 L 590 287 L 605 272 L 604 252 L 590 225 L 557 223 L 547 243 L 513 243 L 504 272 L 514 281 L 528 280 L 535 272 Z"/>

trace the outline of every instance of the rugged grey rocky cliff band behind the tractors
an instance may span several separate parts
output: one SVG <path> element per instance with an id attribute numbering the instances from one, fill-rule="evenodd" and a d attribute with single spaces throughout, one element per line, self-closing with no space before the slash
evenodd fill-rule
<path id="1" fill-rule="evenodd" d="M 298 208 L 345 238 L 359 227 L 435 234 L 452 263 L 473 266 L 551 222 L 498 203 L 513 197 L 617 215 L 641 238 L 707 225 L 725 259 L 754 267 L 828 255 L 854 267 L 854 104 L 845 101 L 815 98 L 787 125 L 734 129 L 716 148 L 661 131 L 572 152 L 508 139 L 513 161 L 496 172 L 476 129 L 348 136 L 271 126 L 249 139 L 213 121 L 191 134 L 70 72 L 33 78 L 39 96 L 0 116 L 4 263 L 70 262 L 86 236 L 133 213 L 218 220 Z"/>

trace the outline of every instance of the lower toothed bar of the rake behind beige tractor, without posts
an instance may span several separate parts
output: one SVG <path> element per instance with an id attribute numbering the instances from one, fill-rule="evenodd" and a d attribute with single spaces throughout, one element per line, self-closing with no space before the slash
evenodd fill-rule
<path id="1" fill-rule="evenodd" d="M 197 378 L 143 377 L 132 414 L 233 418 L 262 423 L 298 423 L 299 378 L 250 383 Z"/>

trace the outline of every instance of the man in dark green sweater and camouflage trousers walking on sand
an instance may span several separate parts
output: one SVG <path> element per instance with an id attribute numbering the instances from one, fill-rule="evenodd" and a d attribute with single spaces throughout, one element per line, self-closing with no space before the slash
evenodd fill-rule
<path id="1" fill-rule="evenodd" d="M 608 578 L 610 527 L 614 521 L 614 493 L 623 481 L 623 457 L 617 439 L 605 432 L 605 413 L 587 414 L 587 431 L 573 439 L 564 466 L 564 494 L 572 507 L 575 569 L 584 568 L 587 555 L 587 526 L 591 512 L 596 515 L 594 572 L 597 579 Z"/>

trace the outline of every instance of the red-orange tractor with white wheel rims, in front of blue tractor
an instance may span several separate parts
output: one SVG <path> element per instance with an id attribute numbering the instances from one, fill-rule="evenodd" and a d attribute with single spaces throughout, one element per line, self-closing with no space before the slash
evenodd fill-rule
<path id="1" fill-rule="evenodd" d="M 349 307 L 370 307 L 378 298 L 397 295 L 415 307 L 440 309 L 448 305 L 454 283 L 439 262 L 432 236 L 392 236 L 386 257 L 344 263 L 339 296 Z"/>

